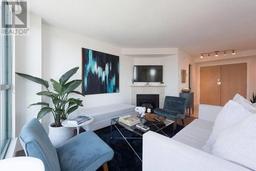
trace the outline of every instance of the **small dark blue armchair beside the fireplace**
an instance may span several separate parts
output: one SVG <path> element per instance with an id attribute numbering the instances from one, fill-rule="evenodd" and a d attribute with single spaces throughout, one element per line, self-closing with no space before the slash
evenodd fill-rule
<path id="1" fill-rule="evenodd" d="M 186 98 L 165 96 L 163 109 L 157 108 L 154 110 L 155 114 L 174 118 L 175 119 L 175 129 L 177 125 L 177 118 L 180 118 L 182 124 L 184 125 L 184 118 L 186 115 Z"/>

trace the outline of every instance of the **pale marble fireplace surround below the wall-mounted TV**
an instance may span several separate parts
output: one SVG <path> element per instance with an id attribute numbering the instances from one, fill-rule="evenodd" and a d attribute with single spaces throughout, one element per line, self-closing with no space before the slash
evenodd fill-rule
<path id="1" fill-rule="evenodd" d="M 131 103 L 137 104 L 137 94 L 159 94 L 159 108 L 163 108 L 166 86 L 131 86 Z"/>

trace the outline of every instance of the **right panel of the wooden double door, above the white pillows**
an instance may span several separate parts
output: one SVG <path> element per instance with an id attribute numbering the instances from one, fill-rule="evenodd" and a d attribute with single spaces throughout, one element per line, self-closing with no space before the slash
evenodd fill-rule
<path id="1" fill-rule="evenodd" d="M 225 105 L 235 94 L 247 96 L 247 63 L 221 66 L 221 105 Z"/>

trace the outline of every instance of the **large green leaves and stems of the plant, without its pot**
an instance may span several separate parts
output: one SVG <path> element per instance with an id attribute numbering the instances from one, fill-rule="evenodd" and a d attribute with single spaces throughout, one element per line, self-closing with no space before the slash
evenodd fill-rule
<path id="1" fill-rule="evenodd" d="M 28 80 L 39 83 L 42 86 L 44 86 L 47 91 L 38 92 L 36 94 L 40 96 L 48 96 L 52 99 L 54 108 L 51 108 L 50 104 L 47 102 L 37 102 L 37 103 L 30 104 L 30 106 L 33 106 L 33 105 L 44 106 L 43 108 L 41 108 L 41 110 L 37 114 L 38 120 L 44 117 L 46 114 L 52 113 L 54 116 L 55 125 L 56 127 L 59 127 L 61 126 L 61 121 L 66 120 L 69 114 L 71 114 L 72 112 L 78 109 L 78 106 L 83 106 L 82 100 L 80 100 L 79 98 L 78 99 L 68 98 L 70 93 L 76 93 L 84 96 L 80 92 L 74 91 L 82 83 L 82 80 L 77 79 L 67 83 L 70 77 L 72 77 L 77 72 L 78 69 L 79 67 L 76 67 L 69 70 L 65 74 L 63 74 L 59 78 L 59 82 L 55 81 L 54 79 L 50 79 L 50 81 L 52 82 L 53 90 L 55 92 L 49 91 L 48 89 L 49 83 L 46 80 L 33 77 L 27 74 L 16 73 L 21 77 L 24 77 Z"/>

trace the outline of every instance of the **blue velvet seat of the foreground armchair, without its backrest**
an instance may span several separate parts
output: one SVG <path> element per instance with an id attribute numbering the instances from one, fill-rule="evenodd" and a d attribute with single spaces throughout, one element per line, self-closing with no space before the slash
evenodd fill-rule
<path id="1" fill-rule="evenodd" d="M 57 147 L 57 153 L 62 171 L 96 170 L 114 156 L 111 147 L 91 131 L 61 144 Z"/>

